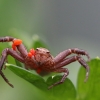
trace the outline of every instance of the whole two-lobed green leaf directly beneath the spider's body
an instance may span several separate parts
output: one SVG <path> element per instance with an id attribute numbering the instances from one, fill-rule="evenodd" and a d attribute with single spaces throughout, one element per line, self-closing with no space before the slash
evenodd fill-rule
<path id="1" fill-rule="evenodd" d="M 33 84 L 40 90 L 44 91 L 44 93 L 46 93 L 46 96 L 48 97 L 48 100 L 52 100 L 52 99 L 65 100 L 65 98 L 67 100 L 74 100 L 76 98 L 75 87 L 69 79 L 66 79 L 64 83 L 57 85 L 48 90 L 48 86 L 59 81 L 62 76 L 55 76 L 54 78 L 49 77 L 45 82 L 43 78 L 33 74 L 32 72 L 24 68 L 12 64 L 7 64 L 7 63 L 6 66 L 16 75 L 20 76 L 21 78 Z"/>

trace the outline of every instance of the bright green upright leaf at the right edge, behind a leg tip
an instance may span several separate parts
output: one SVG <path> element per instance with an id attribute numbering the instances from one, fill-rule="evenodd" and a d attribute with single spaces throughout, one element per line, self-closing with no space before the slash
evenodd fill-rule
<path id="1" fill-rule="evenodd" d="M 100 100 L 100 58 L 89 62 L 89 79 L 84 83 L 85 69 L 80 68 L 78 75 L 78 100 Z"/>

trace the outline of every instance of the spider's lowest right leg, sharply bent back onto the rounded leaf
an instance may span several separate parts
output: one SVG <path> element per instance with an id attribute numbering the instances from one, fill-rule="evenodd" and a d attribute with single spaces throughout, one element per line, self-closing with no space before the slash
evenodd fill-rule
<path id="1" fill-rule="evenodd" d="M 65 79 L 67 78 L 68 74 L 69 74 L 69 71 L 68 71 L 67 68 L 59 68 L 59 69 L 56 69 L 55 71 L 59 72 L 59 73 L 64 72 L 64 75 L 62 76 L 62 79 L 60 81 L 52 84 L 51 86 L 48 87 L 48 89 L 51 89 L 52 87 L 54 87 L 54 86 L 56 86 L 58 84 L 62 84 L 65 81 Z"/>

